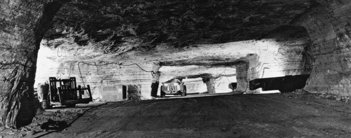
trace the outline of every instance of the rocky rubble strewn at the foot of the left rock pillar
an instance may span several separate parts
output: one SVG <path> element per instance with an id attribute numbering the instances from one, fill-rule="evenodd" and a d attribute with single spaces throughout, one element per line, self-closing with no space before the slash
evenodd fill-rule
<path id="1" fill-rule="evenodd" d="M 67 108 L 46 110 L 33 118 L 33 122 L 19 129 L 0 129 L 0 138 L 36 137 L 46 132 L 64 128 L 86 109 Z M 44 125 L 43 125 L 44 124 Z M 55 128 L 48 125 L 56 125 Z"/>

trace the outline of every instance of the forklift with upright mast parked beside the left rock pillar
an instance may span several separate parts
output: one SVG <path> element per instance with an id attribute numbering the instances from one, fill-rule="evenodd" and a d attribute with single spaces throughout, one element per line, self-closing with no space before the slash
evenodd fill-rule
<path id="1" fill-rule="evenodd" d="M 87 90 L 89 97 L 82 98 Z M 49 82 L 38 84 L 38 100 L 43 109 L 51 109 L 52 106 L 75 107 L 75 104 L 89 103 L 93 101 L 90 86 L 81 88 L 75 81 L 75 77 L 69 79 L 56 79 L 49 77 Z"/>

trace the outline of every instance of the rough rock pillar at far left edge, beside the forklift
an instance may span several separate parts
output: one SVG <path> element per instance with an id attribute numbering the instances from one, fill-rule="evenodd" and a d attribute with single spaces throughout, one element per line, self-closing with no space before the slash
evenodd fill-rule
<path id="1" fill-rule="evenodd" d="M 0 127 L 29 124 L 39 43 L 60 3 L 0 1 Z"/>

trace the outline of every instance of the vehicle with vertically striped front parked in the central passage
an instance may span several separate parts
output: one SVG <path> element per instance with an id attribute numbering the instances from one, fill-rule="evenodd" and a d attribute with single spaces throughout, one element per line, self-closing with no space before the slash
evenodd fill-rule
<path id="1" fill-rule="evenodd" d="M 178 79 L 173 79 L 171 82 L 162 82 L 161 97 L 164 98 L 166 94 L 186 96 L 186 86 L 184 82 Z"/>

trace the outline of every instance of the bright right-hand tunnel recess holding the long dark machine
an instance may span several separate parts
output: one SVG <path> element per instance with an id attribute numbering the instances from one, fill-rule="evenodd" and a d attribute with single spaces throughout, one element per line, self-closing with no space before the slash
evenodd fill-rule
<path id="1" fill-rule="evenodd" d="M 258 39 L 261 44 L 255 44 L 259 52 L 248 53 L 234 62 L 238 90 L 246 93 L 279 93 L 304 88 L 313 61 L 312 42 L 306 28 L 280 26 Z M 262 50 L 261 46 L 265 48 Z M 266 52 L 272 48 L 276 50 Z M 293 77 L 289 77 L 291 75 Z M 268 78 L 278 79 L 271 81 Z M 257 79 L 260 79 L 260 83 L 252 81 Z"/>

